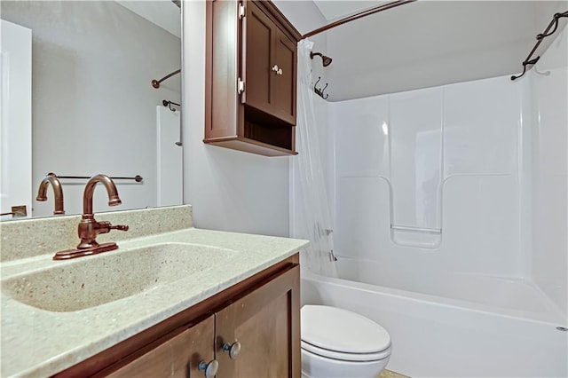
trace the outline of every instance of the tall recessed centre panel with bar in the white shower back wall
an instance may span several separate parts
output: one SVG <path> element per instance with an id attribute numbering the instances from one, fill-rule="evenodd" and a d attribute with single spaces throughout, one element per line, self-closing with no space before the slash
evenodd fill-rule
<path id="1" fill-rule="evenodd" d="M 398 244 L 441 242 L 442 98 L 442 88 L 389 96 L 391 236 Z"/>

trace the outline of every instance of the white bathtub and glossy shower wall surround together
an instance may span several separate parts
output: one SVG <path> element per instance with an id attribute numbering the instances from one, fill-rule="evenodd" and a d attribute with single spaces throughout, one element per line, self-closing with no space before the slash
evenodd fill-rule
<path id="1" fill-rule="evenodd" d="M 328 103 L 337 275 L 304 303 L 381 324 L 403 374 L 567 376 L 567 51 Z"/>

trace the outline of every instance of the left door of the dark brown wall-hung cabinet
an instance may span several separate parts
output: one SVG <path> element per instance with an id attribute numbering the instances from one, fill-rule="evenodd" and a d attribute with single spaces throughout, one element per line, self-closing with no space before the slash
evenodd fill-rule
<path id="1" fill-rule="evenodd" d="M 243 62 L 245 91 L 241 101 L 265 113 L 272 114 L 272 71 L 275 29 L 268 18 L 254 3 L 246 3 L 246 16 L 243 20 Z"/>

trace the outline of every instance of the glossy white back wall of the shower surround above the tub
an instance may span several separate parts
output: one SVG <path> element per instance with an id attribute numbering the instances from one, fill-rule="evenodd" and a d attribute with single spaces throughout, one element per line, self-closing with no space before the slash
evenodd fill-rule
<path id="1" fill-rule="evenodd" d="M 392 272 L 530 276 L 519 205 L 528 84 L 509 77 L 329 104 L 337 255 Z"/>

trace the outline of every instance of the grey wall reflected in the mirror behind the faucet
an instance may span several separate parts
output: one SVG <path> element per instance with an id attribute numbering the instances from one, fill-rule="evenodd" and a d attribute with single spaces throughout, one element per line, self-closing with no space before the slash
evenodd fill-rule
<path id="1" fill-rule="evenodd" d="M 170 4 L 167 4 L 170 5 Z M 180 67 L 180 40 L 109 1 L 3 1 L 2 18 L 32 29 L 33 193 L 48 172 L 59 175 L 144 177 L 117 180 L 122 206 L 156 205 L 156 110 L 179 103 L 174 76 L 155 90 L 150 82 Z M 175 5 L 174 5 L 175 6 Z M 67 214 L 83 211 L 86 180 L 65 180 Z M 34 216 L 49 216 L 48 201 Z M 95 212 L 109 211 L 95 191 Z"/>

